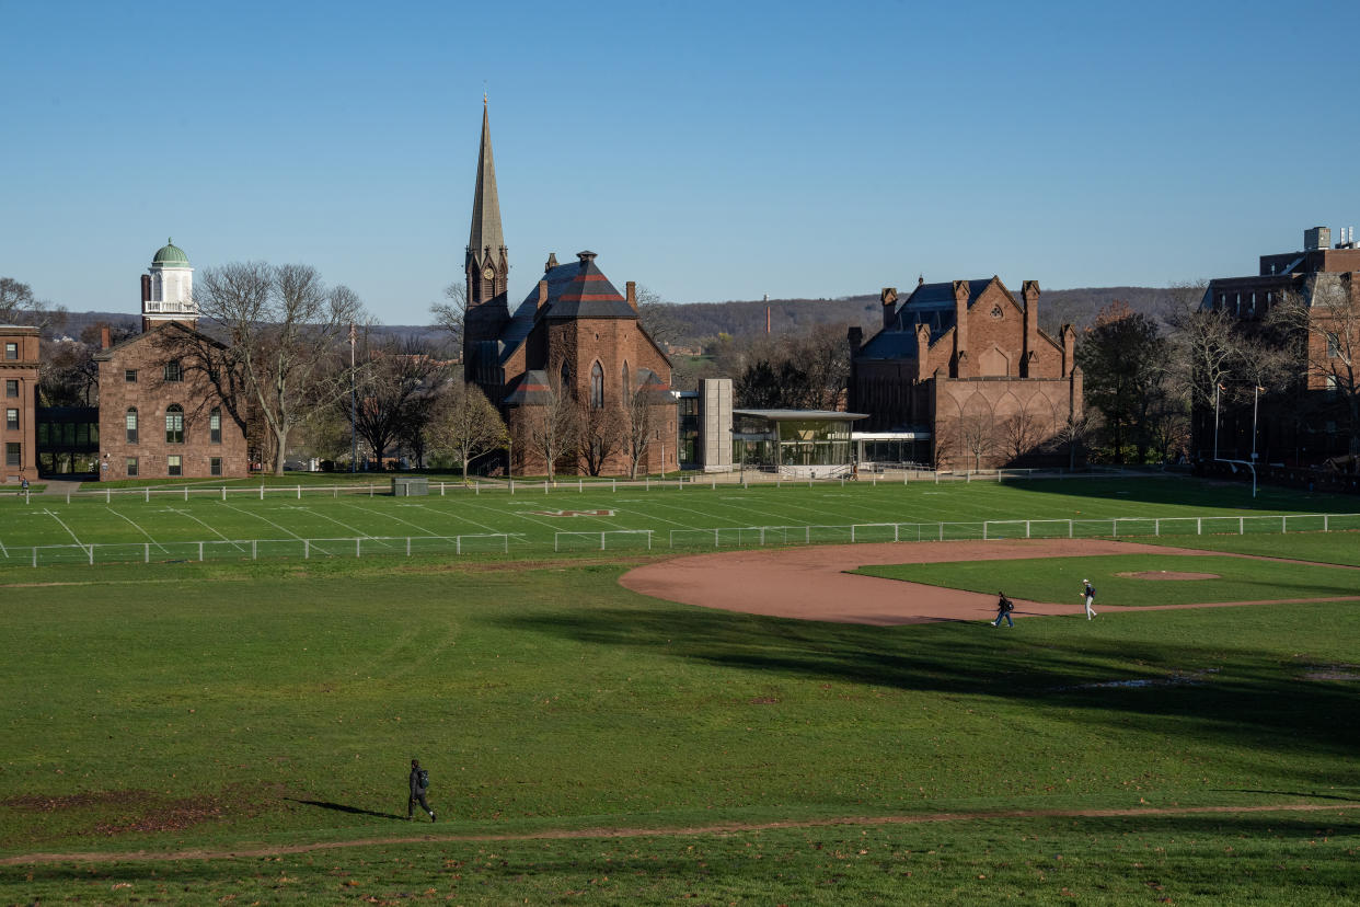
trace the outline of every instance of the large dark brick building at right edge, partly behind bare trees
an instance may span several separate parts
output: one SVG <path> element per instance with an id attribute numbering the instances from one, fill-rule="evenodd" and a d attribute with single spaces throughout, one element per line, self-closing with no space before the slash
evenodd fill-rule
<path id="1" fill-rule="evenodd" d="M 1314 465 L 1346 454 L 1355 417 L 1346 390 L 1360 378 L 1355 362 L 1360 352 L 1360 246 L 1353 233 L 1342 231 L 1333 245 L 1330 228 L 1311 227 L 1303 233 L 1300 252 L 1265 254 L 1258 261 L 1255 275 L 1210 280 L 1201 307 L 1229 313 L 1243 330 L 1259 330 L 1270 309 L 1292 295 L 1308 307 L 1315 324 L 1330 320 L 1334 337 L 1329 341 L 1325 330 L 1308 332 L 1307 359 L 1295 363 L 1293 386 L 1285 393 L 1254 400 L 1251 382 L 1235 381 L 1225 388 L 1220 412 L 1197 405 L 1191 417 L 1195 458 L 1248 460 L 1257 451 L 1262 462 Z"/>

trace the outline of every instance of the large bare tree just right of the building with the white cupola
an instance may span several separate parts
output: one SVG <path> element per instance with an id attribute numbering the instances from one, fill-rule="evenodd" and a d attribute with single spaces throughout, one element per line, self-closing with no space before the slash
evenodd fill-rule
<path id="1" fill-rule="evenodd" d="M 248 392 L 224 394 L 226 405 L 241 424 L 243 407 L 264 422 L 275 475 L 283 475 L 288 432 L 350 390 L 347 375 L 328 363 L 363 315 L 359 298 L 348 287 L 326 287 L 309 265 L 250 261 L 203 271 L 194 302 L 227 336 L 230 367 L 219 374 L 239 374 Z"/>

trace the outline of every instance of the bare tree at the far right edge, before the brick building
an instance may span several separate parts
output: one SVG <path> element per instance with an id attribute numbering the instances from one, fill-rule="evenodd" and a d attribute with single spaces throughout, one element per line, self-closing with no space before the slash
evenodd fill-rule
<path id="1" fill-rule="evenodd" d="M 1349 453 L 1360 468 L 1360 284 L 1349 273 L 1311 275 L 1302 292 L 1281 294 L 1266 318 L 1306 374 L 1345 413 Z"/>

